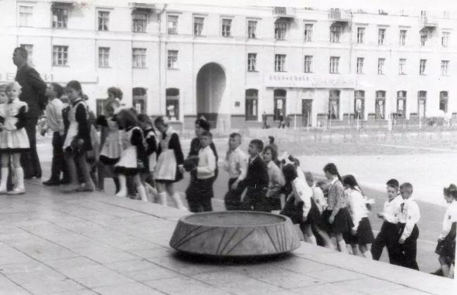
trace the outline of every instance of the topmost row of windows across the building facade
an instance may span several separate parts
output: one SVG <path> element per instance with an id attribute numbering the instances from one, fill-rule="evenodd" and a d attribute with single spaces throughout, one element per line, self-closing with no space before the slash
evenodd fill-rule
<path id="1" fill-rule="evenodd" d="M 19 15 L 20 15 L 20 25 L 27 26 L 31 23 L 32 18 L 32 6 L 20 6 Z M 68 22 L 68 8 L 59 8 L 55 7 L 52 9 L 53 21 L 52 27 L 65 29 L 67 28 Z M 110 28 L 110 11 L 98 11 L 98 22 L 97 28 L 98 31 L 108 31 Z M 148 15 L 147 10 L 136 10 L 132 13 L 132 31 L 144 33 L 146 32 L 146 27 L 148 25 Z M 178 34 L 178 21 L 179 15 L 167 15 L 167 32 L 168 34 Z M 195 16 L 193 18 L 193 33 L 195 36 L 202 36 L 204 33 L 204 24 L 205 18 L 202 16 Z M 231 37 L 232 36 L 232 19 L 231 18 L 222 18 L 221 19 L 221 36 L 222 37 Z M 247 21 L 247 38 L 256 39 L 257 38 L 257 25 L 258 20 L 248 20 Z M 290 27 L 290 22 L 287 20 L 277 20 L 274 27 L 274 36 L 276 40 L 285 40 L 288 27 Z M 304 25 L 304 41 L 311 42 L 313 40 L 313 24 Z M 330 26 L 330 42 L 340 43 L 341 34 L 343 30 L 342 25 L 331 25 Z M 365 27 L 357 27 L 357 44 L 365 43 Z M 399 45 L 406 45 L 406 29 L 400 29 L 399 31 Z M 427 28 L 420 30 L 420 44 L 425 46 L 427 39 L 429 39 L 430 31 Z M 442 32 L 442 46 L 449 46 L 450 32 Z M 386 29 L 378 28 L 378 44 L 384 45 L 386 40 Z"/>

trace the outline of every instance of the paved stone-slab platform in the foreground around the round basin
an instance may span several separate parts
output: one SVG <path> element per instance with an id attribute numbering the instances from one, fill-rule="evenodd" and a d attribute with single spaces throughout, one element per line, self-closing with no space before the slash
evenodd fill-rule
<path id="1" fill-rule="evenodd" d="M 269 261 L 220 263 L 169 247 L 186 214 L 27 183 L 0 197 L 0 294 L 451 294 L 453 280 L 302 243 Z"/>

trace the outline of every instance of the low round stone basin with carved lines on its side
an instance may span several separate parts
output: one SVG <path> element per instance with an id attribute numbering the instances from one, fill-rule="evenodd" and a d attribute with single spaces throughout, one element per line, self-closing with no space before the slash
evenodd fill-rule
<path id="1" fill-rule="evenodd" d="M 207 256 L 266 256 L 300 247 L 288 217 L 253 211 L 221 211 L 182 217 L 169 242 L 173 249 Z"/>

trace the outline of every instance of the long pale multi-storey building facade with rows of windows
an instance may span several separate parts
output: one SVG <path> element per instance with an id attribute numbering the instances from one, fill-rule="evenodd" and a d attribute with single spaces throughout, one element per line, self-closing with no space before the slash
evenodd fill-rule
<path id="1" fill-rule="evenodd" d="M 387 122 L 457 112 L 456 14 L 108 0 L 0 1 L 1 60 L 30 53 L 46 81 L 77 79 L 148 114 L 224 129 Z M 14 79 L 0 63 L 0 81 Z"/>

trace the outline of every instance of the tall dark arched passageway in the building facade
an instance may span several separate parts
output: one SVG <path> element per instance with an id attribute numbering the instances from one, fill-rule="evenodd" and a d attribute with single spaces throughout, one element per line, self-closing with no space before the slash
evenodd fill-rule
<path id="1" fill-rule="evenodd" d="M 207 63 L 197 74 L 197 117 L 204 116 L 211 126 L 217 126 L 221 101 L 226 89 L 226 74 L 217 63 Z"/>

